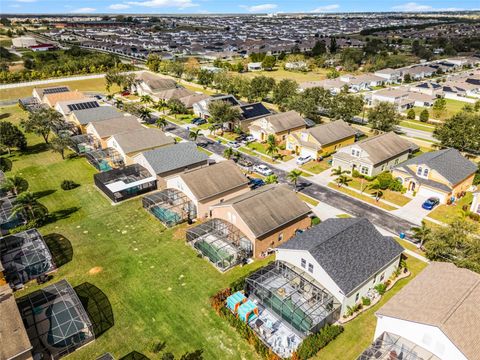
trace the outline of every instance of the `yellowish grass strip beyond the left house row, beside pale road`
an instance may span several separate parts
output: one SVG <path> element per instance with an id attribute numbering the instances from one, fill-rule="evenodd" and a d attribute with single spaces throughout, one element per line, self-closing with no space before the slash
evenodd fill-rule
<path id="1" fill-rule="evenodd" d="M 32 96 L 32 90 L 35 87 L 50 87 L 58 85 L 68 85 L 71 90 L 80 90 L 80 91 L 94 91 L 99 93 L 106 93 L 105 90 L 105 79 L 87 79 L 87 80 L 75 80 L 75 81 L 62 81 L 58 83 L 50 83 L 45 85 L 36 85 L 36 86 L 22 86 L 13 89 L 0 89 L 0 100 L 12 100 L 22 97 Z M 111 91 L 118 91 L 119 89 L 116 86 L 111 88 Z"/>

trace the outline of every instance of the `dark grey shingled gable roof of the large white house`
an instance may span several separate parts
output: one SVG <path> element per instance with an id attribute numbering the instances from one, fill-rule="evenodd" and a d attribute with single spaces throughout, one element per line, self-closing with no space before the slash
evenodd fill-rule
<path id="1" fill-rule="evenodd" d="M 308 251 L 347 296 L 403 252 L 365 218 L 327 219 L 279 248 Z"/>

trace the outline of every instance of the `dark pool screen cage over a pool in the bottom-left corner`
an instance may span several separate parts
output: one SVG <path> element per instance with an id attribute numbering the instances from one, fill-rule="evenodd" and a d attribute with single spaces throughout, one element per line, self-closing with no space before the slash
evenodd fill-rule
<path id="1" fill-rule="evenodd" d="M 66 280 L 17 301 L 34 359 L 59 359 L 95 338 L 92 323 Z"/>

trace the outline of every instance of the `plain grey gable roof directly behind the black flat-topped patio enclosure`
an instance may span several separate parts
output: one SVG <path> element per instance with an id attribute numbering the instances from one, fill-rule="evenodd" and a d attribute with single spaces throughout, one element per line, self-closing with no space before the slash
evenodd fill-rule
<path id="1" fill-rule="evenodd" d="M 182 142 L 142 153 L 156 174 L 163 174 L 208 160 L 208 155 L 197 150 L 193 142 Z"/>

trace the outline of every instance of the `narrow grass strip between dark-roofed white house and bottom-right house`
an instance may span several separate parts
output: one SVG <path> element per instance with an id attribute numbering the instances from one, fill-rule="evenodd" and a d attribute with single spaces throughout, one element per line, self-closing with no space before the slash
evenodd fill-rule
<path id="1" fill-rule="evenodd" d="M 338 360 L 357 359 L 358 356 L 373 342 L 377 325 L 375 312 L 417 276 L 427 264 L 413 257 L 408 257 L 407 267 L 411 275 L 399 280 L 395 286 L 383 295 L 382 299 L 370 309 L 344 325 L 345 331 L 325 348 L 319 351 L 314 359 Z"/>

